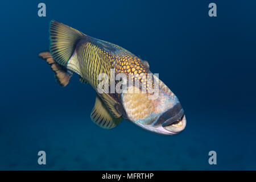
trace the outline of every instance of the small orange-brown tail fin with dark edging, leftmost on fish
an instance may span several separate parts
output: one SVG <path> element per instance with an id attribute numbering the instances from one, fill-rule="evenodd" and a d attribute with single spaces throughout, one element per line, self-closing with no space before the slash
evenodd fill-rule
<path id="1" fill-rule="evenodd" d="M 72 77 L 73 73 L 69 71 L 64 66 L 56 63 L 53 59 L 51 53 L 49 51 L 42 51 L 38 55 L 41 59 L 46 60 L 46 62 L 51 65 L 51 69 L 55 74 L 55 78 L 57 83 L 60 86 L 67 86 L 70 78 Z"/>

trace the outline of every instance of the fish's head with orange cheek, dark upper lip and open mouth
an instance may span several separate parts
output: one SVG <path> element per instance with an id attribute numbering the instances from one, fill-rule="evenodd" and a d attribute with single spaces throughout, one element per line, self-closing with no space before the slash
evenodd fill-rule
<path id="1" fill-rule="evenodd" d="M 127 119 L 154 133 L 180 133 L 187 122 L 184 110 L 175 94 L 158 77 L 153 77 L 154 93 L 143 93 L 138 86 L 127 86 L 126 92 L 121 94 Z"/>

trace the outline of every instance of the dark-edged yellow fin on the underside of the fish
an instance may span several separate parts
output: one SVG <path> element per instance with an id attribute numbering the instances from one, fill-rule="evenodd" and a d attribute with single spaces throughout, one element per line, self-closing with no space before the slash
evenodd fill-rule
<path id="1" fill-rule="evenodd" d="M 117 126 L 122 118 L 115 118 L 111 113 L 109 113 L 108 108 L 104 104 L 98 95 L 96 96 L 95 105 L 93 107 L 90 118 L 96 125 L 103 127 L 105 129 L 112 129 Z"/>

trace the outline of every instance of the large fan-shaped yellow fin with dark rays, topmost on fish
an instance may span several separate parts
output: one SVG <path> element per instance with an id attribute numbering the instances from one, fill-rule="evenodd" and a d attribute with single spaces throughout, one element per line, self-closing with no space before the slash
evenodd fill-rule
<path id="1" fill-rule="evenodd" d="M 72 56 L 77 40 L 84 36 L 82 32 L 63 23 L 52 20 L 49 28 L 50 51 L 57 63 L 67 67 L 68 60 Z"/>

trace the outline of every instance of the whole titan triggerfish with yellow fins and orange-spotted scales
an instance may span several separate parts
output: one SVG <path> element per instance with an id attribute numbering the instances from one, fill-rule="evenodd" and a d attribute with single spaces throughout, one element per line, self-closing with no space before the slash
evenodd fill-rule
<path id="1" fill-rule="evenodd" d="M 96 90 L 90 114 L 96 125 L 113 129 L 126 119 L 163 135 L 185 129 L 180 101 L 150 71 L 148 61 L 56 20 L 50 22 L 49 40 L 49 50 L 38 56 L 51 66 L 60 86 L 67 86 L 76 73 L 81 83 Z"/>

